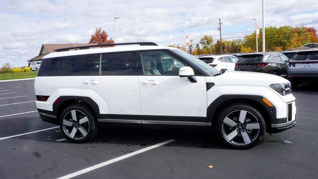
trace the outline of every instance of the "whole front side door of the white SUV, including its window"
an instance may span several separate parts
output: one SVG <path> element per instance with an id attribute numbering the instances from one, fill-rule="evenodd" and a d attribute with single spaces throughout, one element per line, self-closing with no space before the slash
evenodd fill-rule
<path id="1" fill-rule="evenodd" d="M 179 77 L 185 63 L 163 51 L 140 52 L 138 64 L 143 124 L 206 125 L 204 76 L 196 76 L 197 82 Z"/>

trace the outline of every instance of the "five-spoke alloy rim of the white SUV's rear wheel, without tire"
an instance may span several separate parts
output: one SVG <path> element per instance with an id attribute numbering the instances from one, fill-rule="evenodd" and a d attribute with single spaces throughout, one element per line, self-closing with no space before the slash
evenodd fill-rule
<path id="1" fill-rule="evenodd" d="M 79 110 L 71 110 L 63 118 L 63 131 L 71 139 L 81 140 L 89 132 L 89 120 L 87 116 Z"/>

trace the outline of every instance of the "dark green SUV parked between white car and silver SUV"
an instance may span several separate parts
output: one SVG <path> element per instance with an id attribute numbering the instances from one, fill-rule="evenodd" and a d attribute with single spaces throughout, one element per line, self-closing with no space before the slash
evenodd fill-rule
<path id="1" fill-rule="evenodd" d="M 286 76 L 289 59 L 280 52 L 250 53 L 242 55 L 235 71 L 252 71 Z"/>

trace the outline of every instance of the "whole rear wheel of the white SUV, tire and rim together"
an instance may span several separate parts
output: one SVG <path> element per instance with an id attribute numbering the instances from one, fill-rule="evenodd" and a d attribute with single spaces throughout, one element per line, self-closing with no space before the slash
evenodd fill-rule
<path id="1" fill-rule="evenodd" d="M 68 140 L 84 143 L 95 137 L 98 123 L 89 107 L 84 104 L 73 104 L 62 112 L 60 128 Z"/>

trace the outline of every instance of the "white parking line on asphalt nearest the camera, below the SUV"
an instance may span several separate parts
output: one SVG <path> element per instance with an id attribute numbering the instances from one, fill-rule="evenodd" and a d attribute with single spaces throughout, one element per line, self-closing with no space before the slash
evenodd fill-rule
<path id="1" fill-rule="evenodd" d="M 140 153 L 142 153 L 142 152 L 146 152 L 147 150 L 151 150 L 151 149 L 153 149 L 153 148 L 156 148 L 156 147 L 159 147 L 159 146 L 168 144 L 168 143 L 173 142 L 173 141 L 175 141 L 175 140 L 170 139 L 170 140 L 161 142 L 161 143 L 159 143 L 159 144 L 156 144 L 156 145 L 153 145 L 153 146 L 150 146 L 150 147 L 147 147 L 147 148 L 143 148 L 143 149 L 141 149 L 141 150 L 137 150 L 137 151 L 132 152 L 132 153 L 130 153 L 130 154 L 126 154 L 126 155 L 123 155 L 123 156 L 114 158 L 114 159 L 112 159 L 112 160 L 105 161 L 105 162 L 103 162 L 103 163 L 94 165 L 94 166 L 92 166 L 92 167 L 88 167 L 88 168 L 85 168 L 85 169 L 83 169 L 83 170 L 79 170 L 78 172 L 74 172 L 74 173 L 71 173 L 71 174 L 69 174 L 69 175 L 62 176 L 62 177 L 60 177 L 60 178 L 58 178 L 58 179 L 68 179 L 68 178 L 72 178 L 72 177 L 74 177 L 74 176 L 81 175 L 81 174 L 83 174 L 83 173 L 86 173 L 86 172 L 92 171 L 92 170 L 94 170 L 94 169 L 97 169 L 97 168 L 106 166 L 106 165 L 111 164 L 111 163 L 114 163 L 114 162 L 116 162 L 116 161 L 120 161 L 120 160 L 122 160 L 122 159 L 131 157 L 131 156 L 133 156 L 133 155 L 140 154 Z"/>

